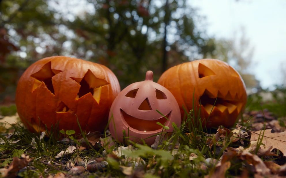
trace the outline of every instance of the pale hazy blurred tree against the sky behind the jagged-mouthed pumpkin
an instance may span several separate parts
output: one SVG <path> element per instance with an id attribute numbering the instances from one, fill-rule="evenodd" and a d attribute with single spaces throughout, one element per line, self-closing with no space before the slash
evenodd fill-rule
<path id="1" fill-rule="evenodd" d="M 245 35 L 244 28 L 239 34 L 234 34 L 232 39 L 209 40 L 209 46 L 214 46 L 215 50 L 209 50 L 204 58 L 215 58 L 232 65 L 241 75 L 247 88 L 260 88 L 259 81 L 250 73 L 251 61 L 254 47 L 250 45 L 249 39 Z"/>

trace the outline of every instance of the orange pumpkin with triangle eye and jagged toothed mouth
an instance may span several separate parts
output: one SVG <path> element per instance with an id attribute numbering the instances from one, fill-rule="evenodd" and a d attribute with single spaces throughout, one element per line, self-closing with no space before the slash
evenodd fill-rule
<path id="1" fill-rule="evenodd" d="M 183 107 L 187 111 L 194 109 L 196 114 L 200 111 L 207 128 L 232 126 L 247 102 L 239 73 L 217 59 L 201 59 L 171 67 L 158 83 L 175 96 L 182 118 Z"/>

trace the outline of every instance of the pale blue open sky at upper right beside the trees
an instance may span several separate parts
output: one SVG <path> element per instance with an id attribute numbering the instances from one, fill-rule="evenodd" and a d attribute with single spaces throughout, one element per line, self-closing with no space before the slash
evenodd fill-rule
<path id="1" fill-rule="evenodd" d="M 232 38 L 242 27 L 254 47 L 249 72 L 262 88 L 285 83 L 286 0 L 188 0 L 206 16 L 206 31 L 216 38 Z"/>

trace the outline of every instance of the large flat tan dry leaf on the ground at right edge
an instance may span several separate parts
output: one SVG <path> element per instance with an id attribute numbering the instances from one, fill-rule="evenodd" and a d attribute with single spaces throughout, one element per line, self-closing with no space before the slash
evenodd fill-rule
<path id="1" fill-rule="evenodd" d="M 268 146 L 273 146 L 273 148 L 279 149 L 284 155 L 286 155 L 286 131 L 280 133 L 271 133 L 271 130 L 272 129 L 255 132 L 251 131 L 252 134 L 250 140 L 258 141 L 262 138 L 262 143 L 266 148 Z"/>

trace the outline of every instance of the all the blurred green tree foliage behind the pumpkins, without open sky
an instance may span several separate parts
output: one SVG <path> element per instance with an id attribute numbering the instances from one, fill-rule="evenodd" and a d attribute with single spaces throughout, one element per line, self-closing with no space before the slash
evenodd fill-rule
<path id="1" fill-rule="evenodd" d="M 205 28 L 185 0 L 0 0 L 1 100 L 13 100 L 31 63 L 53 55 L 104 64 L 122 89 L 144 80 L 147 70 L 157 81 L 169 67 L 205 57 L 247 67 L 239 52 L 228 56 L 233 40 L 216 40 Z"/>

